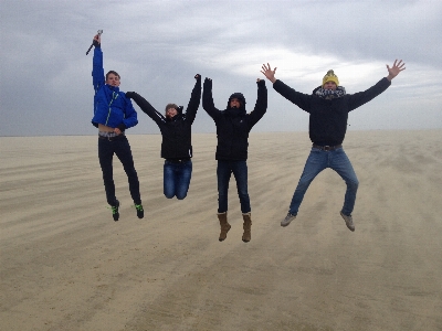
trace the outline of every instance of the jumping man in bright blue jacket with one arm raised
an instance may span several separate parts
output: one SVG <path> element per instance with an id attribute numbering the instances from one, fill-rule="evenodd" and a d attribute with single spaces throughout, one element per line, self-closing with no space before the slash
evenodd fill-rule
<path id="1" fill-rule="evenodd" d="M 139 181 L 125 130 L 138 124 L 137 113 L 130 100 L 119 90 L 119 75 L 109 71 L 104 75 L 101 35 L 94 36 L 94 58 L 92 77 L 95 89 L 94 117 L 92 124 L 98 128 L 98 160 L 103 171 L 107 203 L 112 207 L 114 221 L 119 220 L 119 201 L 115 196 L 112 160 L 114 153 L 123 163 L 129 182 L 138 218 L 144 217 Z"/>

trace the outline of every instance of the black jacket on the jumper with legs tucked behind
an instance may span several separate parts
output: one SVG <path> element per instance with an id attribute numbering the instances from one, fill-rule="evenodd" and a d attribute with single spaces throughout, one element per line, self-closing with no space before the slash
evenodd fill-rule
<path id="1" fill-rule="evenodd" d="M 186 159 L 192 157 L 191 126 L 197 116 L 201 99 L 201 76 L 197 78 L 186 114 L 178 109 L 178 115 L 171 119 L 158 113 L 144 97 L 135 92 L 126 93 L 139 108 L 158 125 L 161 136 L 161 158 Z"/>

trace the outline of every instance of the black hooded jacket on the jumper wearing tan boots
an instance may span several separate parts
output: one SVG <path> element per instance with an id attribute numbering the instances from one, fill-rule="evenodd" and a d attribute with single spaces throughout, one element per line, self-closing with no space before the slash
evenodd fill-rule
<path id="1" fill-rule="evenodd" d="M 264 116 L 267 109 L 267 88 L 265 82 L 257 84 L 257 99 L 252 113 L 245 111 L 245 99 L 240 93 L 232 94 L 229 98 L 239 98 L 241 108 L 218 110 L 213 105 L 212 81 L 206 78 L 202 92 L 202 108 L 213 118 L 217 125 L 217 160 L 242 161 L 248 159 L 249 132 L 252 127 Z"/>

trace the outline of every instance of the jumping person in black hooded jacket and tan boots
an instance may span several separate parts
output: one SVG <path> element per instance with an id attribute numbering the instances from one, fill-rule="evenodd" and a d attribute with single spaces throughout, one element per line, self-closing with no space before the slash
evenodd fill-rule
<path id="1" fill-rule="evenodd" d="M 248 192 L 248 147 L 249 132 L 252 127 L 264 116 L 267 109 L 267 88 L 265 82 L 257 79 L 257 99 L 255 108 L 248 114 L 245 98 L 241 93 L 230 96 L 228 107 L 220 111 L 213 105 L 212 79 L 206 78 L 202 92 L 202 108 L 209 114 L 217 125 L 218 146 L 215 159 L 218 160 L 218 220 L 221 226 L 219 241 L 227 238 L 231 227 L 228 222 L 228 191 L 230 177 L 233 173 L 236 180 L 238 195 L 243 215 L 242 241 L 251 241 L 251 206 Z"/>

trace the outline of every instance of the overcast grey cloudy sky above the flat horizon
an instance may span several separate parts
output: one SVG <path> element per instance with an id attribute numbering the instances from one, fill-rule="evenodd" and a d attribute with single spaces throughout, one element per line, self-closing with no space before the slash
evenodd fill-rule
<path id="1" fill-rule="evenodd" d="M 1 0 L 0 136 L 96 135 L 92 57 L 103 30 L 105 72 L 122 76 L 158 110 L 187 106 L 193 76 L 213 81 L 213 100 L 256 100 L 263 63 L 311 94 L 334 70 L 347 93 L 365 90 L 406 62 L 392 85 L 351 111 L 348 130 L 442 128 L 442 1 Z M 269 108 L 253 131 L 307 131 L 308 114 L 266 81 Z M 127 134 L 159 134 L 136 105 Z M 214 132 L 202 109 L 193 132 Z"/>

